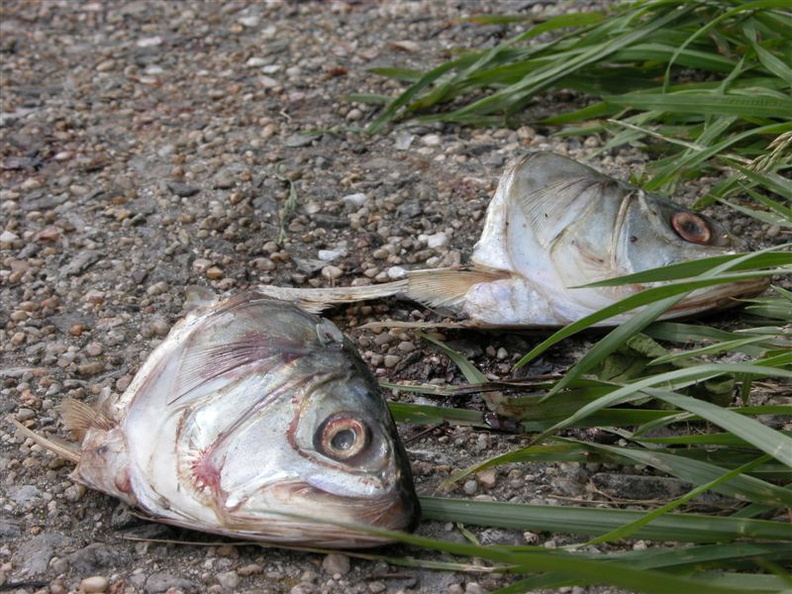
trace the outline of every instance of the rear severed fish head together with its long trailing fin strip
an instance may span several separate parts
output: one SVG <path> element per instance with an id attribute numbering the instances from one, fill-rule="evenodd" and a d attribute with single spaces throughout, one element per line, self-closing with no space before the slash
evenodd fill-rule
<path id="1" fill-rule="evenodd" d="M 567 157 L 537 152 L 512 163 L 501 177 L 465 268 L 413 270 L 381 285 L 257 290 L 312 311 L 395 295 L 449 310 L 461 320 L 451 326 L 556 327 L 647 288 L 580 285 L 746 249 L 709 217 Z M 662 319 L 729 307 L 766 287 L 758 279 L 700 289 Z M 601 325 L 618 325 L 632 315 Z"/>

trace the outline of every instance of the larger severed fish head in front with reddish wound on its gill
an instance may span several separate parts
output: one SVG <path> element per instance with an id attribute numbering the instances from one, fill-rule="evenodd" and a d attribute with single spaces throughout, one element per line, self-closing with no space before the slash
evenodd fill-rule
<path id="1" fill-rule="evenodd" d="M 419 516 L 376 380 L 334 324 L 290 303 L 248 293 L 190 312 L 120 397 L 71 401 L 64 422 L 83 434 L 73 478 L 156 521 L 358 548 L 388 540 L 323 520 L 409 530 Z"/>

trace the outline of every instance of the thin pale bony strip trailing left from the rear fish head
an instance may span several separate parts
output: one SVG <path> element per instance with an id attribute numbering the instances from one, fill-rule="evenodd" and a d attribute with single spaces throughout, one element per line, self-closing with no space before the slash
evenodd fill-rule
<path id="1" fill-rule="evenodd" d="M 295 289 L 292 287 L 273 287 L 262 285 L 255 289 L 260 295 L 274 297 L 281 301 L 296 303 L 305 311 L 320 313 L 339 303 L 354 303 L 370 299 L 382 299 L 394 295 L 404 295 L 407 280 L 397 280 L 379 285 L 359 287 L 334 287 L 330 289 Z"/>

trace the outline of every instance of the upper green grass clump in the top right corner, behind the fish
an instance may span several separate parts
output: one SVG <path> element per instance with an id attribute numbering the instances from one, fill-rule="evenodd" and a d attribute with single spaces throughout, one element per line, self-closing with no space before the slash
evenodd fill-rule
<path id="1" fill-rule="evenodd" d="M 370 132 L 415 118 L 606 133 L 605 149 L 631 144 L 659 157 L 647 190 L 671 191 L 685 177 L 727 169 L 731 175 L 713 188 L 711 201 L 743 186 L 784 185 L 782 172 L 792 167 L 790 64 L 786 0 L 644 0 L 533 23 L 426 72 L 372 69 L 410 86 L 395 99 L 356 98 L 385 105 Z M 526 116 L 526 107 L 560 90 L 588 104 L 538 120 Z"/>

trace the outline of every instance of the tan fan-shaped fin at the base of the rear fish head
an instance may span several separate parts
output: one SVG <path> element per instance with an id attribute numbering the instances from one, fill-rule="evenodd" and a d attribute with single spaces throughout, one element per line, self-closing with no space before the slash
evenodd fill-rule
<path id="1" fill-rule="evenodd" d="M 459 311 L 470 287 L 509 276 L 506 272 L 481 269 L 414 270 L 407 273 L 406 296 L 430 307 L 448 307 Z"/>

